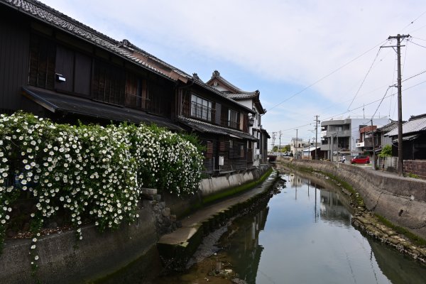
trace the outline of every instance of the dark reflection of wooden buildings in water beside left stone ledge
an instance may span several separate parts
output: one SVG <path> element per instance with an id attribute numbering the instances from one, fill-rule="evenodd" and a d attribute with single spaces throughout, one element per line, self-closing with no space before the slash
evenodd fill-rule
<path id="1" fill-rule="evenodd" d="M 256 283 L 259 261 L 263 246 L 258 244 L 259 232 L 265 228 L 269 208 L 264 207 L 256 214 L 238 219 L 222 237 L 221 245 L 234 266 L 239 278 L 247 283 Z"/>

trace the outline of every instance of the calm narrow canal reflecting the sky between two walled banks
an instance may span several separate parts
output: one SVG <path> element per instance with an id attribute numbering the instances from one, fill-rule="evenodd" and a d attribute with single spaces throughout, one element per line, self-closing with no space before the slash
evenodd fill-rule
<path id="1" fill-rule="evenodd" d="M 151 283 L 426 283 L 424 266 L 351 226 L 349 204 L 331 182 L 281 178 L 286 186 L 231 222 L 211 256 Z"/>

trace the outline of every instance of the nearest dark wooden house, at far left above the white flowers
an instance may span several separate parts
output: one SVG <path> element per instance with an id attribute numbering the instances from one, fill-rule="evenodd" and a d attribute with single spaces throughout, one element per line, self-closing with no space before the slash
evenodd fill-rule
<path id="1" fill-rule="evenodd" d="M 173 122 L 175 79 L 38 1 L 0 0 L 0 112 L 58 122 Z"/>

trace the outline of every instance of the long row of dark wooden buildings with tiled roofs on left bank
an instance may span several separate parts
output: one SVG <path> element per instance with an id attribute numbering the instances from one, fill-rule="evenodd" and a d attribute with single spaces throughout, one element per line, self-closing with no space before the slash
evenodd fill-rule
<path id="1" fill-rule="evenodd" d="M 60 123 L 157 124 L 194 132 L 210 174 L 253 166 L 249 116 L 235 99 L 129 40 L 114 40 L 35 0 L 0 0 L 0 113 Z M 266 141 L 264 142 L 266 145 Z"/>

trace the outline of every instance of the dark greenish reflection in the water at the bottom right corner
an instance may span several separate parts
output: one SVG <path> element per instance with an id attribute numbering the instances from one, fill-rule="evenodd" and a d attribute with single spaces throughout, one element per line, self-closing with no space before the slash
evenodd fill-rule
<path id="1" fill-rule="evenodd" d="M 371 246 L 371 261 L 376 258 L 378 267 L 382 273 L 391 280 L 392 284 L 425 284 L 426 268 L 420 267 L 412 259 L 405 258 L 403 255 L 380 243 L 368 239 Z"/>

